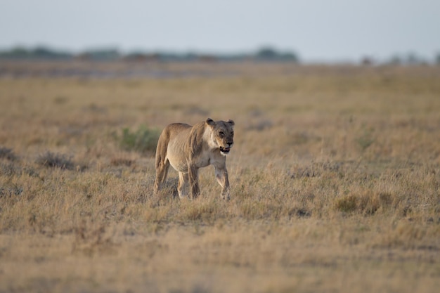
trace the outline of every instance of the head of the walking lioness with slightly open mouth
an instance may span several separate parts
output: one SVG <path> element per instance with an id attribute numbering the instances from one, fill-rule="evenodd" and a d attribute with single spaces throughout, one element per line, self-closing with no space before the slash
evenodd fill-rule
<path id="1" fill-rule="evenodd" d="M 222 155 L 228 155 L 234 143 L 233 126 L 235 123 L 232 120 L 215 122 L 211 118 L 208 118 L 205 123 L 212 129 L 211 139 L 214 145 L 219 147 Z"/>

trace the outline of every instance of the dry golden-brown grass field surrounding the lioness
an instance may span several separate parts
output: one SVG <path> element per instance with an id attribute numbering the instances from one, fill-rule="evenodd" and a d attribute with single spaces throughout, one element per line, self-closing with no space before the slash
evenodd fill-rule
<path id="1" fill-rule="evenodd" d="M 96 67 L 0 67 L 0 292 L 438 291 L 440 67 Z M 207 117 L 231 200 L 212 167 L 153 195 L 157 134 Z"/>

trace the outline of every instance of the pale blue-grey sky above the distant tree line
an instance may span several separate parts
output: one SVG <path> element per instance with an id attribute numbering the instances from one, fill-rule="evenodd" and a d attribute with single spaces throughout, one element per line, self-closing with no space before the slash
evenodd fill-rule
<path id="1" fill-rule="evenodd" d="M 305 61 L 440 53 L 440 0 L 0 0 L 0 49 L 238 53 Z"/>

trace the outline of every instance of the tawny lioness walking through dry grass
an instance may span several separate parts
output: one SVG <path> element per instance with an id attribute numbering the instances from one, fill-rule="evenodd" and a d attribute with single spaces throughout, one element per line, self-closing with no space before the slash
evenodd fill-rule
<path id="1" fill-rule="evenodd" d="M 169 165 L 179 171 L 179 197 L 200 193 L 199 168 L 214 165 L 215 176 L 221 187 L 221 197 L 229 199 L 226 155 L 234 143 L 234 122 L 214 121 L 208 118 L 194 126 L 183 123 L 169 124 L 160 134 L 156 149 L 156 178 L 154 192 L 160 190 L 167 179 Z"/>

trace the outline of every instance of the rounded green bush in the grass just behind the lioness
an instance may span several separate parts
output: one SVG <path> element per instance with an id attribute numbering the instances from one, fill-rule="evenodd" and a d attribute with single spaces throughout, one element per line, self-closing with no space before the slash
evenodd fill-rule
<path id="1" fill-rule="evenodd" d="M 122 129 L 122 136 L 118 138 L 119 146 L 123 150 L 141 152 L 142 154 L 155 152 L 159 136 L 159 130 L 150 129 L 145 125 L 139 126 L 136 131 L 131 131 L 127 127 Z"/>

